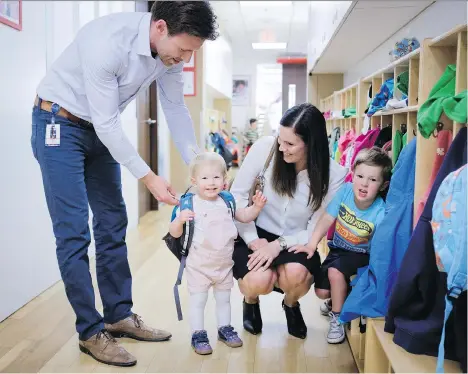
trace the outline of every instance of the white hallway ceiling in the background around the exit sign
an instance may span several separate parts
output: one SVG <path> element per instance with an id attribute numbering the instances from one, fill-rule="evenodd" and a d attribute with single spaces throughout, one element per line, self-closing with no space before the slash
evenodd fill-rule
<path id="1" fill-rule="evenodd" d="M 239 1 L 211 1 L 220 32 L 232 45 L 235 57 L 274 63 L 280 55 L 307 53 L 308 1 L 293 1 L 275 6 L 262 1 L 259 6 L 243 7 Z M 287 42 L 286 50 L 254 50 L 254 42 Z"/>

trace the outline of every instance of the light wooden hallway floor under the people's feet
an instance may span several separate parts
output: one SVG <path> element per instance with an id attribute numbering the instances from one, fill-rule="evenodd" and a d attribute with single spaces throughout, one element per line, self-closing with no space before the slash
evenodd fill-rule
<path id="1" fill-rule="evenodd" d="M 199 356 L 190 347 L 188 321 L 177 320 L 172 286 L 178 262 L 161 240 L 166 233 L 168 207 L 144 217 L 129 232 L 129 260 L 133 274 L 134 312 L 155 327 L 172 332 L 165 343 L 121 342 L 137 359 L 132 368 L 100 364 L 78 350 L 74 314 L 62 282 L 0 323 L 0 372 L 357 372 L 348 343 L 329 345 L 328 321 L 319 313 L 320 300 L 310 292 L 301 300 L 308 338 L 288 335 L 281 295 L 261 298 L 263 333 L 254 337 L 242 328 L 242 296 L 236 286 L 232 297 L 232 324 L 244 341 L 231 349 L 216 340 L 216 316 L 210 296 L 206 328 L 214 353 Z M 94 268 L 91 269 L 94 279 Z M 95 286 L 97 292 L 97 287 Z M 181 288 L 187 316 L 187 290 Z M 97 294 L 97 307 L 102 305 Z"/>

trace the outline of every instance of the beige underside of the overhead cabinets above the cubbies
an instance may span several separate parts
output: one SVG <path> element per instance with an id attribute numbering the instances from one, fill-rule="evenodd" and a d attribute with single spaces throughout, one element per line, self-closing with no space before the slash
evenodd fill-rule
<path id="1" fill-rule="evenodd" d="M 356 1 L 313 68 L 339 73 L 355 66 L 434 1 Z"/>

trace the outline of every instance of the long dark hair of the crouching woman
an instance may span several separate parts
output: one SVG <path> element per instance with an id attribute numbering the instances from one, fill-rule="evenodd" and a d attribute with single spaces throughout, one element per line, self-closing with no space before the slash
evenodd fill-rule
<path id="1" fill-rule="evenodd" d="M 309 205 L 316 211 L 328 192 L 330 178 L 325 118 L 315 106 L 305 103 L 288 109 L 280 125 L 292 128 L 305 143 L 310 184 Z M 273 189 L 280 195 L 293 197 L 297 188 L 296 167 L 284 161 L 279 144 L 273 162 Z"/>

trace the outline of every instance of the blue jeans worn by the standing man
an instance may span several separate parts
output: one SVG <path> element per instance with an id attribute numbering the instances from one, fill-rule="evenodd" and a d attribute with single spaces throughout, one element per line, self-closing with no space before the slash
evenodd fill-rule
<path id="1" fill-rule="evenodd" d="M 46 145 L 52 113 L 35 107 L 31 146 L 39 162 L 52 219 L 57 259 L 68 300 L 76 314 L 76 329 L 87 340 L 131 315 L 132 276 L 127 260 L 127 212 L 122 197 L 120 165 L 91 126 L 56 116 L 60 145 Z M 89 273 L 88 203 L 93 212 L 96 273 L 104 319 L 95 307 Z M 51 316 L 53 318 L 53 316 Z"/>

